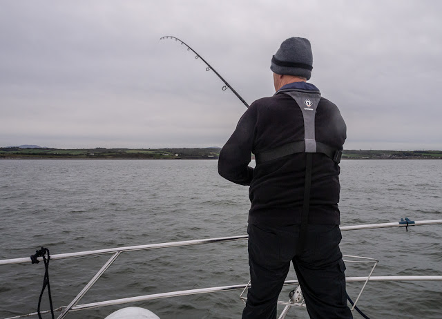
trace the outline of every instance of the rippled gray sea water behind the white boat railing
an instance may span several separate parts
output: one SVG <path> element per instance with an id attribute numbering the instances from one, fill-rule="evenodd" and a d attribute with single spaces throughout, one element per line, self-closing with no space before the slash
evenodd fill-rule
<path id="1" fill-rule="evenodd" d="M 442 219 L 442 160 L 343 160 L 340 167 L 341 226 Z M 247 195 L 247 186 L 218 175 L 216 160 L 1 160 L 0 259 L 27 257 L 41 246 L 58 254 L 245 235 Z M 373 276 L 441 276 L 441 233 L 441 225 L 343 231 L 340 247 L 380 260 Z M 68 305 L 108 258 L 51 261 L 54 306 Z M 123 253 L 79 305 L 247 284 L 247 262 L 245 240 Z M 347 263 L 347 276 L 368 273 L 366 265 Z M 43 276 L 43 263 L 0 266 L 0 318 L 36 311 Z M 296 279 L 293 269 L 287 279 Z M 361 285 L 348 283 L 350 296 Z M 240 318 L 239 294 L 131 305 L 162 319 Z M 442 282 L 369 282 L 358 307 L 370 318 L 441 318 L 441 300 Z M 67 318 L 104 318 L 122 307 L 128 305 Z M 308 318 L 307 311 L 291 309 L 287 318 Z M 355 311 L 354 318 L 362 317 Z"/>

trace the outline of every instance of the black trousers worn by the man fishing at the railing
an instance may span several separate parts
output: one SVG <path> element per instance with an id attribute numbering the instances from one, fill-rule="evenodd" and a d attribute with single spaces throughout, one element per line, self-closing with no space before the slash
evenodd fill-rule
<path id="1" fill-rule="evenodd" d="M 284 227 L 249 224 L 251 287 L 242 319 L 275 319 L 276 302 L 293 263 L 310 318 L 353 318 L 347 307 L 345 264 L 338 225 L 308 225 L 299 255 L 299 225 Z"/>

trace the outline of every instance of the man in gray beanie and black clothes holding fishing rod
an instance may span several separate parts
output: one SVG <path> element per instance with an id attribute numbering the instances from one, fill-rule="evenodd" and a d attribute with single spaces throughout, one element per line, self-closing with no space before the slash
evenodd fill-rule
<path id="1" fill-rule="evenodd" d="M 336 105 L 306 82 L 312 64 L 309 40 L 282 42 L 270 67 L 275 95 L 251 104 L 220 153 L 220 175 L 250 186 L 251 287 L 243 319 L 276 318 L 290 262 L 310 318 L 352 318 L 338 226 L 346 126 Z"/>

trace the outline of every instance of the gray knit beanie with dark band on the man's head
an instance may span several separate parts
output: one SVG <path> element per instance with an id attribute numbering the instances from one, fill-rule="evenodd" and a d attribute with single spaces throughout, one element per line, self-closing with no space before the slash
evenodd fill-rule
<path id="1" fill-rule="evenodd" d="M 310 79 L 313 68 L 313 54 L 310 41 L 291 37 L 281 43 L 271 59 L 270 70 L 281 75 L 296 75 Z"/>

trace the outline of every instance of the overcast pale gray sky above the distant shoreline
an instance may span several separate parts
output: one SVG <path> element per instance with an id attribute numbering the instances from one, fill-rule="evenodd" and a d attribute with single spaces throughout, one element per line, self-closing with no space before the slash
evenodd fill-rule
<path id="1" fill-rule="evenodd" d="M 222 146 L 307 37 L 346 149 L 442 149 L 442 1 L 19 1 L 0 6 L 0 146 Z"/>

